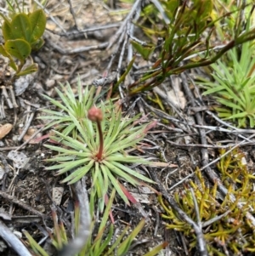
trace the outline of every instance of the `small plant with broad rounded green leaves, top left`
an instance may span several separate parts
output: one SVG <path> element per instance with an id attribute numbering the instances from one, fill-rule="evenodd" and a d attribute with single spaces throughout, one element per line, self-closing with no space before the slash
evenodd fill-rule
<path id="1" fill-rule="evenodd" d="M 8 1 L 7 1 L 8 2 Z M 8 2 L 11 14 L 3 18 L 3 40 L 0 45 L 0 54 L 9 59 L 9 65 L 14 69 L 14 77 L 25 76 L 37 71 L 37 64 L 25 66 L 26 60 L 31 55 L 32 50 L 42 48 L 42 35 L 45 31 L 46 16 L 42 9 L 37 9 L 26 14 L 17 4 L 17 10 L 14 4 Z M 19 64 L 15 61 L 19 60 Z"/>

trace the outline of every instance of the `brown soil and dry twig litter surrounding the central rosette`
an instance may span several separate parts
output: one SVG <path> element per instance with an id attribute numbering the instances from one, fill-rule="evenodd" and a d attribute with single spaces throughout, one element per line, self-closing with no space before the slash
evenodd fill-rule
<path id="1" fill-rule="evenodd" d="M 65 224 L 71 224 L 72 205 L 75 201 L 71 187 L 60 184 L 61 177 L 45 170 L 48 164 L 45 160 L 52 156 L 52 152 L 44 147 L 48 142 L 49 130 L 43 130 L 45 122 L 37 118 L 42 115 L 42 109 L 50 107 L 42 94 L 57 97 L 54 88 L 59 88 L 59 82 L 69 82 L 76 92 L 78 76 L 82 86 L 108 77 L 108 82 L 99 84 L 102 90 L 106 90 L 119 71 L 118 60 L 121 54 L 117 48 L 118 43 L 113 43 L 110 48 L 109 45 L 116 35 L 122 36 L 116 32 L 121 27 L 122 20 L 127 17 L 130 4 L 116 3 L 116 6 L 111 6 L 111 3 L 107 5 L 103 1 L 76 0 L 72 1 L 72 14 L 68 2 L 48 1 L 47 31 L 43 36 L 45 44 L 32 55 L 39 65 L 39 71 L 30 76 L 29 82 L 16 82 L 13 88 L 16 105 L 11 97 L 11 88 L 6 88 L 11 105 L 1 98 L 5 117 L 0 123 L 10 123 L 13 128 L 3 137 L 0 146 L 0 219 L 18 236 L 22 236 L 24 241 L 26 237 L 22 235 L 22 230 L 27 230 L 37 242 L 48 238 L 47 230 L 53 229 L 52 208 L 56 208 L 59 219 Z M 76 30 L 83 32 L 76 33 Z M 7 60 L 2 58 L 0 61 L 0 82 L 3 85 L 4 79 L 10 76 L 10 70 Z M 150 61 L 139 60 L 137 65 L 150 65 Z M 127 63 L 123 61 L 122 71 L 126 68 Z M 123 105 L 124 114 L 141 113 L 148 122 L 157 120 L 156 128 L 146 135 L 142 150 L 143 154 L 154 157 L 165 165 L 149 171 L 147 168 L 140 168 L 139 172 L 148 176 L 150 172 L 156 173 L 160 186 L 169 196 L 183 191 L 183 185 L 189 180 L 186 178 L 195 178 L 195 168 L 203 168 L 205 163 L 218 157 L 218 145 L 227 148 L 242 143 L 240 148 L 247 167 L 254 169 L 254 141 L 250 139 L 243 143 L 244 139 L 236 134 L 217 129 L 224 127 L 225 123 L 220 122 L 209 111 L 208 99 L 201 98 L 199 88 L 192 83 L 192 78 L 197 74 L 204 75 L 202 70 L 195 70 L 173 76 L 161 87 L 135 95 Z M 135 74 L 131 73 L 130 79 L 132 76 Z M 156 104 L 156 97 L 161 99 L 165 111 L 161 111 Z M 173 107 L 176 111 L 173 111 Z M 31 139 L 31 134 L 36 132 L 37 139 Z M 203 141 L 201 134 L 205 139 Z M 248 137 L 248 134 L 243 134 L 244 137 Z M 10 152 L 16 154 L 14 158 L 9 156 Z M 215 169 L 215 163 L 210 168 Z M 181 182 L 180 185 L 177 185 L 178 182 Z M 193 255 L 194 252 L 188 252 L 187 241 L 181 233 L 166 229 L 165 220 L 161 219 L 163 209 L 156 194 L 144 188 L 134 188 L 127 184 L 125 186 L 128 191 L 133 192 L 143 210 L 134 205 L 128 207 L 116 197 L 112 208 L 116 219 L 115 227 L 122 229 L 124 224 L 129 224 L 132 230 L 144 218 L 143 213 L 147 218 L 144 229 L 127 255 L 143 255 L 161 242 L 168 244 L 160 255 Z M 154 187 L 160 190 L 160 187 Z M 0 255 L 17 255 L 13 248 L 1 240 L 0 248 Z M 48 253 L 50 254 L 49 251 Z"/>

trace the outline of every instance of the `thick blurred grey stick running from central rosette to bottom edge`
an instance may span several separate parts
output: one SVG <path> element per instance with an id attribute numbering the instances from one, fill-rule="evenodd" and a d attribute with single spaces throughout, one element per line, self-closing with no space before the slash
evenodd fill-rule
<path id="1" fill-rule="evenodd" d="M 78 235 L 65 247 L 63 247 L 58 256 L 71 256 L 79 253 L 82 247 L 88 242 L 90 236 L 91 218 L 89 214 L 88 191 L 86 190 L 85 178 L 77 181 L 74 185 L 80 209 L 80 225 Z"/>

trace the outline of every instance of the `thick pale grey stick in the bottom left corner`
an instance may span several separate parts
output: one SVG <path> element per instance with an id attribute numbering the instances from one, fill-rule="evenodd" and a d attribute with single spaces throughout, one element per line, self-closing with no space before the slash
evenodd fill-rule
<path id="1" fill-rule="evenodd" d="M 0 220 L 0 236 L 5 242 L 14 248 L 14 251 L 20 256 L 31 256 L 31 253 L 27 250 L 25 245 L 20 242 L 20 239 L 14 235 L 14 233 L 8 229 L 8 227 Z"/>

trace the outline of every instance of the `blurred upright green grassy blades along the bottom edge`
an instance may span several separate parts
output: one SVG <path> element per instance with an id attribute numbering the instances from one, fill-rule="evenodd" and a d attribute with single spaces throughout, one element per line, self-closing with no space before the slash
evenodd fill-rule
<path id="1" fill-rule="evenodd" d="M 114 235 L 114 225 L 109 224 L 109 214 L 111 213 L 111 205 L 115 196 L 115 191 L 112 191 L 111 198 L 107 203 L 105 208 L 105 213 L 101 219 L 98 230 L 97 222 L 94 221 L 91 224 L 91 230 L 96 231 L 97 236 L 92 233 L 88 241 L 85 243 L 82 251 L 77 253 L 75 256 L 122 256 L 126 255 L 130 246 L 132 245 L 133 239 L 139 234 L 143 229 L 145 220 L 142 219 L 130 234 L 127 235 L 129 226 L 122 230 L 122 233 L 113 239 Z M 77 234 L 79 230 L 79 208 L 75 208 L 75 230 L 74 233 Z M 61 249 L 65 244 L 68 243 L 68 236 L 65 230 L 65 226 L 62 222 L 57 221 L 56 213 L 53 213 L 54 219 L 54 234 L 50 234 L 52 238 L 52 243 L 56 249 Z M 27 231 L 24 231 L 26 238 L 34 253 L 37 256 L 48 256 L 48 253 L 29 235 Z M 162 248 L 166 247 L 167 243 L 162 243 L 161 245 L 152 249 L 149 253 L 145 253 L 144 256 L 154 256 L 161 251 Z"/>

